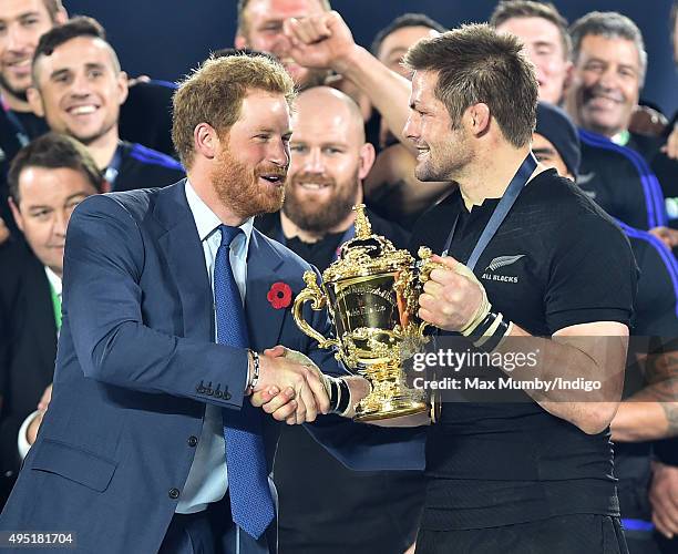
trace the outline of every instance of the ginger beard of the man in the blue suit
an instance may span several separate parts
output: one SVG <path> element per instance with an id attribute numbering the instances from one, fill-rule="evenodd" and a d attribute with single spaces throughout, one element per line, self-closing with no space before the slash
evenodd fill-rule
<path id="1" fill-rule="evenodd" d="M 279 186 L 261 186 L 261 175 L 279 176 Z M 219 201 L 243 218 L 278 212 L 285 198 L 286 177 L 287 168 L 275 164 L 259 164 L 251 168 L 239 162 L 228 148 L 218 153 L 212 171 L 212 184 Z"/>

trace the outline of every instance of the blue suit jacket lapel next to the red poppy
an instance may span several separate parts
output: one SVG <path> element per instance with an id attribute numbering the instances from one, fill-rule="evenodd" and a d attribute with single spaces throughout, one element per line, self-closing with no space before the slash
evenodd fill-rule
<path id="1" fill-rule="evenodd" d="M 278 343 L 285 314 L 288 310 L 275 309 L 268 301 L 270 286 L 278 280 L 277 275 L 285 259 L 268 244 L 256 228 L 251 232 L 247 254 L 247 293 L 245 315 L 251 348 L 261 351 Z"/>

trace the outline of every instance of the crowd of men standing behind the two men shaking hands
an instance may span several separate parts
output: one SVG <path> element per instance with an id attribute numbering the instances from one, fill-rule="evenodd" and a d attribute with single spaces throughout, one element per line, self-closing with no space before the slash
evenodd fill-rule
<path id="1" fill-rule="evenodd" d="M 409 79 L 400 64 L 407 50 L 445 27 L 403 14 L 368 50 L 330 10 L 328 0 L 240 0 L 235 49 L 215 54 L 273 55 L 301 91 L 285 204 L 255 225 L 320 270 L 352 238 L 355 204 L 366 203 L 372 228 L 404 247 L 418 217 L 455 187 L 417 179 L 417 152 L 401 134 L 408 99 L 382 93 Z M 320 59 L 290 32 L 297 20 L 322 14 L 340 40 Z M 610 425 L 615 473 L 630 552 L 675 552 L 676 116 L 640 102 L 647 53 L 625 16 L 594 11 L 568 24 L 552 4 L 515 0 L 499 2 L 489 22 L 516 34 L 536 68 L 536 157 L 617 220 L 640 268 L 638 340 Z M 172 92 L 168 83 L 130 80 L 102 25 L 69 19 L 60 0 L 0 3 L 0 501 L 49 406 L 69 217 L 89 195 L 183 178 L 171 141 Z M 282 553 L 413 547 L 425 494 L 419 472 L 351 472 L 294 427 L 282 433 L 275 479 Z M 322 479 L 325 494 L 300 479 Z"/>

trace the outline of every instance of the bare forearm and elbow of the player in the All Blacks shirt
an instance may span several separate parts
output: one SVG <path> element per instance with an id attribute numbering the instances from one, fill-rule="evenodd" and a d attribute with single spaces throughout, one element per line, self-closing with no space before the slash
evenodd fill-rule
<path id="1" fill-rule="evenodd" d="M 619 357 L 622 352 L 626 355 L 624 337 L 577 339 L 554 336 L 552 339 L 531 337 L 528 340 L 525 337 L 531 335 L 514 325 L 511 335 L 495 351 L 504 355 L 532 355 L 536 363 L 534 367 L 516 366 L 512 371 L 504 370 L 506 375 L 514 381 L 538 379 L 553 383 L 549 390 L 528 389 L 526 392 L 544 410 L 569 421 L 586 433 L 595 434 L 605 430 L 615 416 L 622 396 L 624 363 Z M 593 346 L 594 340 L 599 345 Z M 579 346 L 585 342 L 586 350 L 577 347 L 577 342 Z M 592 352 L 592 349 L 597 351 Z M 607 351 L 615 353 L 607 357 Z M 577 379 L 599 382 L 600 388 L 582 391 L 562 387 L 563 382 L 577 382 Z"/>

